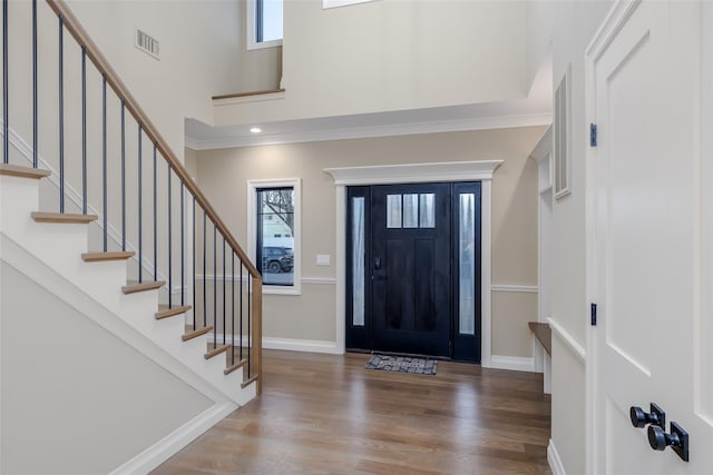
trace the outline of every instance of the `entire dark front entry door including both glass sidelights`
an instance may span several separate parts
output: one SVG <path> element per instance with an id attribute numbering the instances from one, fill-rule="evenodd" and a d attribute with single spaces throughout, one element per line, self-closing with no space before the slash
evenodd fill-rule
<path id="1" fill-rule="evenodd" d="M 480 184 L 350 187 L 346 347 L 480 360 Z"/>

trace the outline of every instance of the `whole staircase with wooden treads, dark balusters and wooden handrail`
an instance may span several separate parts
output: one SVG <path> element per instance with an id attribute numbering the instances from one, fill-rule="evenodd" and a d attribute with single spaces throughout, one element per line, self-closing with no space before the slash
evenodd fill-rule
<path id="1" fill-rule="evenodd" d="M 217 395 L 213 400 L 229 402 L 221 414 L 246 404 L 262 384 L 260 273 L 69 8 L 59 0 L 11 3 L 31 14 L 18 16 L 30 19 L 30 38 L 9 37 L 8 26 L 20 20 L 2 0 L 0 257 L 18 268 L 39 263 L 62 281 L 58 297 L 66 291 L 100 306 L 113 319 L 107 329 L 128 334 L 123 339 L 129 345 L 140 340 L 144 353 L 149 342 L 166 370 Z M 47 6 L 59 24 L 51 40 L 37 27 L 37 11 Z M 38 49 L 52 41 L 59 117 L 39 113 L 47 95 L 38 90 Z M 81 80 L 71 85 L 64 80 L 65 42 L 81 55 L 81 70 L 74 72 Z M 8 51 L 30 43 L 32 60 L 20 65 L 27 78 L 14 86 L 31 85 L 31 93 L 13 93 L 10 78 L 19 63 L 10 63 Z M 100 103 L 87 99 L 88 90 L 101 91 Z M 81 110 L 80 120 L 66 120 L 70 103 Z M 18 109 L 32 111 L 31 129 L 13 129 Z M 56 146 L 39 132 L 47 121 L 58 130 Z M 91 135 L 91 123 L 100 123 L 101 133 Z M 74 154 L 66 152 L 70 148 Z"/>

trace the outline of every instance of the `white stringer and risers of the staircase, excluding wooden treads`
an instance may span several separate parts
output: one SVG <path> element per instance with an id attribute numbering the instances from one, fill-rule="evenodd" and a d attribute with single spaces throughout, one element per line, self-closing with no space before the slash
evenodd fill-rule
<path id="1" fill-rule="evenodd" d="M 183 342 L 180 336 L 185 331 L 184 319 L 165 318 L 156 320 L 158 309 L 158 294 L 156 290 L 124 295 L 121 286 L 126 285 L 126 263 L 85 263 L 81 254 L 87 251 L 88 227 L 86 225 L 69 224 L 38 224 L 31 218 L 31 212 L 38 210 L 39 185 L 37 180 L 17 177 L 0 177 L 0 232 L 2 247 L 7 249 L 22 249 L 43 264 L 45 267 L 60 276 L 70 286 L 64 286 L 62 293 L 56 294 L 65 299 L 66 294 L 74 286 L 86 297 L 105 309 L 105 318 L 97 321 L 105 328 L 135 346 L 136 335 L 126 330 L 121 335 L 115 333 L 117 325 L 107 326 L 114 316 L 152 342 L 166 355 L 193 374 L 186 379 L 185 370 L 177 372 L 176 365 L 164 366 L 165 358 L 157 360 L 167 370 L 175 374 L 197 390 L 206 394 L 213 400 L 228 399 L 242 406 L 255 397 L 256 385 L 251 384 L 242 388 L 242 368 L 225 375 L 225 359 L 215 357 L 205 359 L 207 335 Z M 19 248 L 19 249 L 16 249 Z M 0 251 L 6 254 L 6 249 Z M 13 253 L 19 254 L 19 253 Z M 3 257 L 4 259 L 4 257 Z M 92 314 L 87 314 L 92 315 Z M 149 355 L 147 355 L 149 356 Z M 222 396 L 217 397 L 215 392 Z M 208 394 L 213 394 L 209 396 Z"/>

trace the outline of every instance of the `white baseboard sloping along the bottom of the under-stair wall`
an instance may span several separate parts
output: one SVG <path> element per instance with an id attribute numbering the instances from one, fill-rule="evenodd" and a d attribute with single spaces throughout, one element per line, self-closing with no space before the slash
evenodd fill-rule
<path id="1" fill-rule="evenodd" d="M 236 408 L 232 403 L 216 404 L 114 469 L 111 475 L 149 473 Z"/>

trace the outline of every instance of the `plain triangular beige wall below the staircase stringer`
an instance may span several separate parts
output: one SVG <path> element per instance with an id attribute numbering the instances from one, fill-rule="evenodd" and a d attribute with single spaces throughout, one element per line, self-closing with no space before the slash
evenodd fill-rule
<path id="1" fill-rule="evenodd" d="M 0 472 L 108 473 L 213 402 L 0 264 Z"/>

